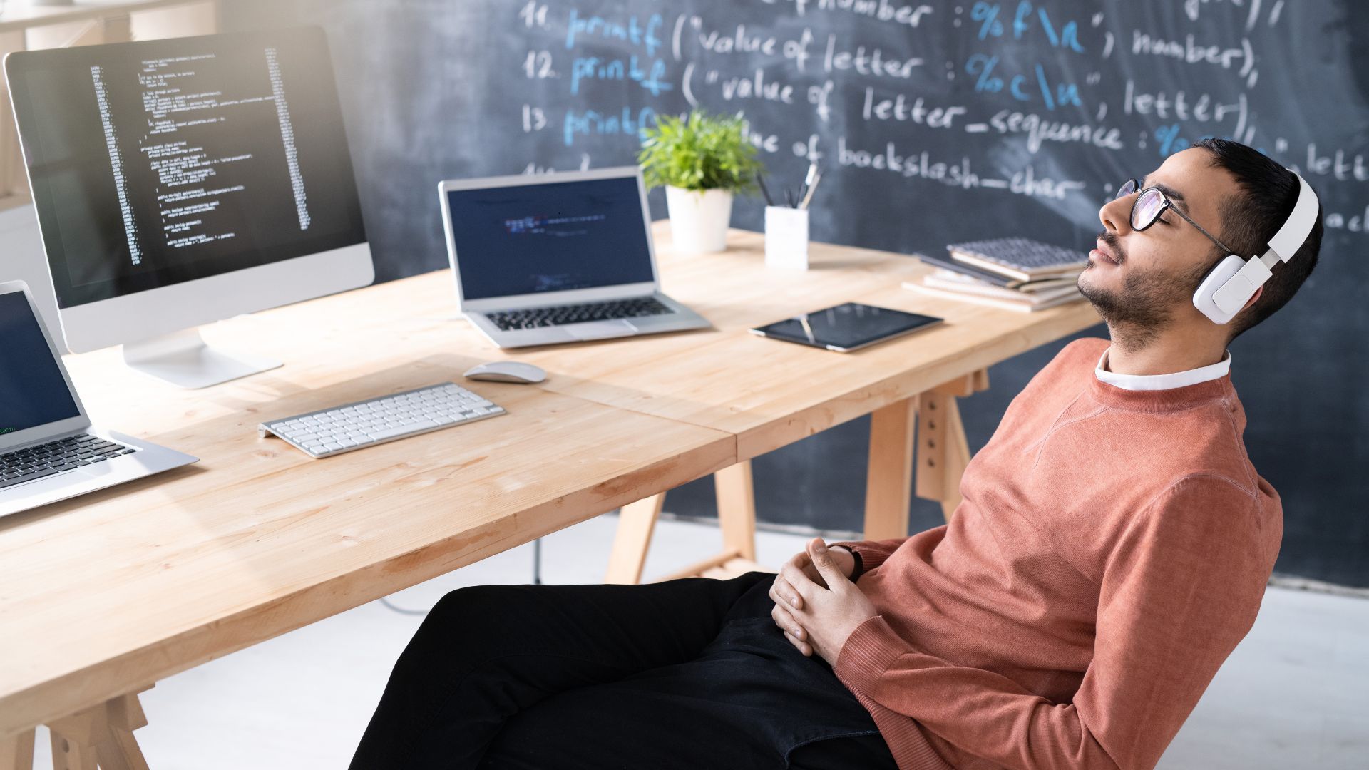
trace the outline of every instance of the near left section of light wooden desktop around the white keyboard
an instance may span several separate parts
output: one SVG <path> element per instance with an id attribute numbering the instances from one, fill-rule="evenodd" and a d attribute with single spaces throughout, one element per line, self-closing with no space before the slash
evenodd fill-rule
<path id="1" fill-rule="evenodd" d="M 256 423 L 460 381 L 476 359 L 345 378 L 382 358 L 352 347 L 278 370 L 319 388 L 183 392 L 107 352 L 71 360 L 78 388 L 104 380 L 92 412 L 200 462 L 0 519 L 0 738 L 735 462 L 719 432 L 494 382 L 467 385 L 504 417 L 312 460 Z"/>

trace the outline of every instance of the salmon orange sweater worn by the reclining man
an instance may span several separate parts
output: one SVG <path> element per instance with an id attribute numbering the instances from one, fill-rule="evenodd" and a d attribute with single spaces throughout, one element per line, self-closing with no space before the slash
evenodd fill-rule
<path id="1" fill-rule="evenodd" d="M 1153 767 L 1255 621 L 1283 515 L 1231 375 L 1127 390 L 1106 347 L 1013 399 L 949 525 L 841 544 L 879 615 L 835 671 L 901 770 Z"/>

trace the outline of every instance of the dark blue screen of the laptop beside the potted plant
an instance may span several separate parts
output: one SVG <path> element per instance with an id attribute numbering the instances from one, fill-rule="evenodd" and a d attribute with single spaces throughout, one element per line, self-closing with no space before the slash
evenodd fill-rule
<path id="1" fill-rule="evenodd" d="M 446 196 L 468 300 L 654 280 L 637 177 Z"/>

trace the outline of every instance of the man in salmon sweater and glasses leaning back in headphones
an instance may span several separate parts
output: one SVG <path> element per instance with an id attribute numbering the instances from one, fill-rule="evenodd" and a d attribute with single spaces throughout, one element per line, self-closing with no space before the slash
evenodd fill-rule
<path id="1" fill-rule="evenodd" d="M 1221 140 L 1124 185 L 1079 278 L 1112 345 L 1013 400 L 949 525 L 813 540 L 779 575 L 452 592 L 352 766 L 1153 767 L 1279 551 L 1225 348 L 1306 280 L 1320 211 L 1229 323 L 1194 290 L 1298 189 Z"/>

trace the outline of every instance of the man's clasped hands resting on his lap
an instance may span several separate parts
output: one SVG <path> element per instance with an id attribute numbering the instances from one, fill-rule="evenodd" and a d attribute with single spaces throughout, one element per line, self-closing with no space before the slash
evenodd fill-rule
<path id="1" fill-rule="evenodd" d="M 775 601 L 771 618 L 804 655 L 816 652 L 836 666 L 836 656 L 856 626 L 879 614 L 852 582 L 854 569 L 856 558 L 850 551 L 828 548 L 816 537 L 775 575 L 769 591 Z"/>

